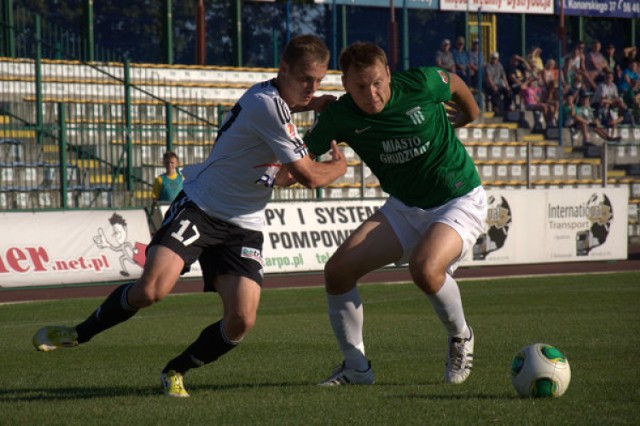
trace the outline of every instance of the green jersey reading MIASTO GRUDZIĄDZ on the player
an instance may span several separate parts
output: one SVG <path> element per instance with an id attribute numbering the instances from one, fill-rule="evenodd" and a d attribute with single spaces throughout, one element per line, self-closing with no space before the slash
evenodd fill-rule
<path id="1" fill-rule="evenodd" d="M 481 184 L 447 117 L 443 102 L 450 99 L 449 74 L 440 68 L 394 73 L 391 99 L 380 113 L 366 114 L 343 95 L 304 140 L 315 155 L 334 139 L 346 142 L 386 193 L 411 207 L 441 206 Z"/>

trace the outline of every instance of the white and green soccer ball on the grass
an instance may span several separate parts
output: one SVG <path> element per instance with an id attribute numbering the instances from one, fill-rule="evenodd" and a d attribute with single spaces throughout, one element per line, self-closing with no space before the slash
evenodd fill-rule
<path id="1" fill-rule="evenodd" d="M 522 348 L 511 362 L 511 383 L 523 398 L 557 398 L 566 392 L 570 381 L 567 357 L 546 343 Z"/>

